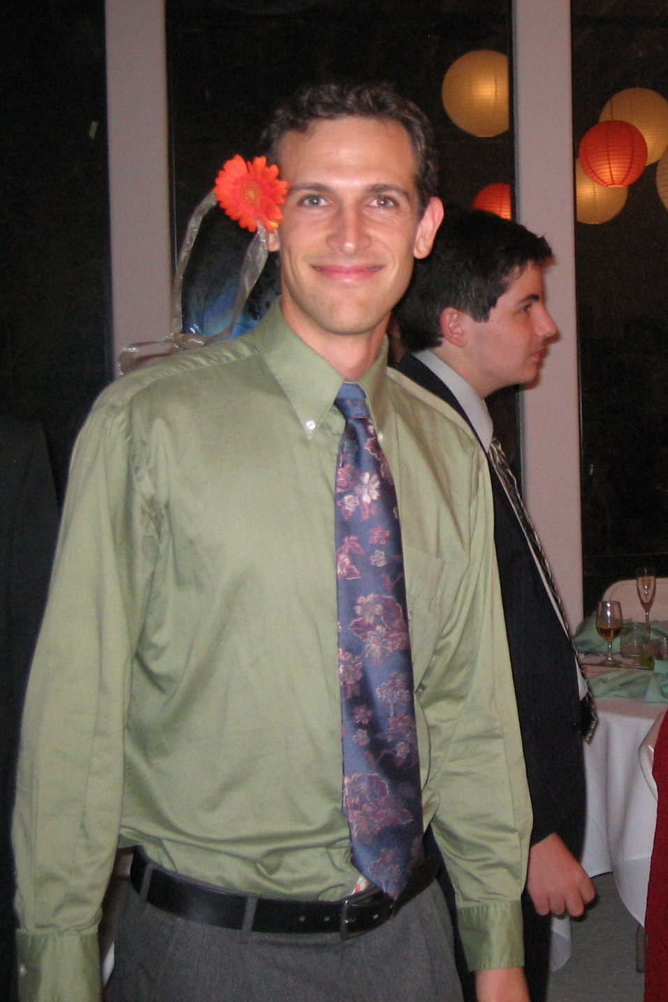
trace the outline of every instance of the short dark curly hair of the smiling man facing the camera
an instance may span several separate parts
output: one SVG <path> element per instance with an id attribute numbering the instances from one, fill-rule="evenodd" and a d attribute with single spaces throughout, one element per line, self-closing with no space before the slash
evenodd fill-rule
<path id="1" fill-rule="evenodd" d="M 381 118 L 399 122 L 409 133 L 416 156 L 416 184 L 420 211 L 436 194 L 439 167 L 432 125 L 417 104 L 401 97 L 389 83 L 347 84 L 329 82 L 301 87 L 280 104 L 262 132 L 260 145 L 270 160 L 286 132 L 305 132 L 318 119 Z"/>

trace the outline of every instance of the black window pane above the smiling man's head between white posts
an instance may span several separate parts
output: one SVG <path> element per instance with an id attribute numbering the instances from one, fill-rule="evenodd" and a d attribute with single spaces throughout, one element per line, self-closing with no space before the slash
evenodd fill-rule
<path id="1" fill-rule="evenodd" d="M 176 241 L 223 161 L 255 155 L 274 105 L 305 81 L 395 83 L 435 126 L 446 203 L 512 181 L 510 133 L 468 135 L 441 102 L 455 59 L 476 48 L 508 53 L 509 32 L 499 0 L 168 0 Z"/>

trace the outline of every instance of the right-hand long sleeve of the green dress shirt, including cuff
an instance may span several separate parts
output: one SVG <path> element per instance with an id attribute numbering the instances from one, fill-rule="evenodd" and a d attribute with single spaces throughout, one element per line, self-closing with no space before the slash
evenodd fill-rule
<path id="1" fill-rule="evenodd" d="M 474 465 L 470 561 L 418 689 L 431 739 L 433 821 L 472 970 L 524 963 L 520 897 L 531 805 L 494 549 L 486 464 Z M 453 569 L 454 570 L 454 569 Z"/>

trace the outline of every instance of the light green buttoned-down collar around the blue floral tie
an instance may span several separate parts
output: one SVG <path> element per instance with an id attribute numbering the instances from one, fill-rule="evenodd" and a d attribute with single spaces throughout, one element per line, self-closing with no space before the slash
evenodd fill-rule
<path id="1" fill-rule="evenodd" d="M 255 328 L 257 346 L 269 371 L 294 408 L 306 437 L 312 438 L 333 406 L 345 380 L 321 355 L 302 341 L 285 322 L 275 301 Z M 255 332 L 245 337 L 252 337 Z M 372 420 L 382 430 L 388 413 L 387 339 L 379 358 L 359 383 L 367 394 Z"/>

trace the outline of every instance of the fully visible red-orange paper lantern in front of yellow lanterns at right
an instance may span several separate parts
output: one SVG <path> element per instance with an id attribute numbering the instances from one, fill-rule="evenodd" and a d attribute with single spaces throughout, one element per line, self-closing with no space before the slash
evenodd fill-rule
<path id="1" fill-rule="evenodd" d="M 614 118 L 585 132 L 579 152 L 582 169 L 604 187 L 633 184 L 647 163 L 647 143 L 640 129 Z"/>

